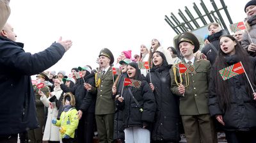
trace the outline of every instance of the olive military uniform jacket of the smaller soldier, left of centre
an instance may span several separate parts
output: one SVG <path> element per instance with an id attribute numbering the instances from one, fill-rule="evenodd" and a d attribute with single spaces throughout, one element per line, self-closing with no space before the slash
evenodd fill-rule
<path id="1" fill-rule="evenodd" d="M 112 98 L 112 86 L 113 86 L 113 72 L 112 66 L 108 71 L 102 75 L 97 73 L 95 80 L 100 81 L 99 87 L 97 87 L 97 98 L 95 106 L 95 115 L 114 114 L 115 113 L 115 101 Z M 96 89 L 92 89 L 96 90 Z"/>

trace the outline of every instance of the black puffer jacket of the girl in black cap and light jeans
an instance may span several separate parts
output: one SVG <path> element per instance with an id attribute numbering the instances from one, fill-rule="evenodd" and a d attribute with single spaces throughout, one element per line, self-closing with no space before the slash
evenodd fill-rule
<path id="1" fill-rule="evenodd" d="M 132 99 L 128 88 L 131 89 L 134 98 L 140 103 L 143 112 L 140 112 L 140 109 Z M 142 127 L 143 124 L 148 125 L 153 122 L 156 112 L 156 101 L 146 80 L 141 81 L 140 88 L 125 86 L 122 95 L 124 97 L 124 102 L 118 102 L 117 107 L 118 109 L 123 110 L 124 128 L 128 128 L 129 126 Z"/>

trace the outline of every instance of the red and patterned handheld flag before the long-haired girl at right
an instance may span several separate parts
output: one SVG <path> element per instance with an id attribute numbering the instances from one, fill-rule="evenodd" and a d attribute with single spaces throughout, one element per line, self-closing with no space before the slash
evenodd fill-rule
<path id="1" fill-rule="evenodd" d="M 228 66 L 227 68 L 223 68 L 219 71 L 223 80 L 230 79 L 236 75 L 240 75 L 244 73 L 244 68 L 241 62 Z"/>

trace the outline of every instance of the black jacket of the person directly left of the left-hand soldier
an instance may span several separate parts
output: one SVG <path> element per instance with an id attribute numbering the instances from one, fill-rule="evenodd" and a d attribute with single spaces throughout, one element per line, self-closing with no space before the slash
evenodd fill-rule
<path id="1" fill-rule="evenodd" d="M 76 109 L 83 110 L 83 112 L 95 112 L 96 95 L 88 92 L 84 89 L 84 81 L 92 86 L 95 86 L 95 75 L 94 73 L 88 74 L 83 79 L 77 79 L 76 84 L 72 88 L 68 88 L 64 84 L 60 87 L 63 92 L 71 92 L 76 98 Z"/>

